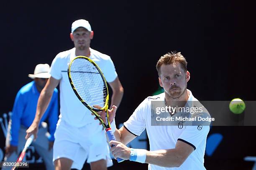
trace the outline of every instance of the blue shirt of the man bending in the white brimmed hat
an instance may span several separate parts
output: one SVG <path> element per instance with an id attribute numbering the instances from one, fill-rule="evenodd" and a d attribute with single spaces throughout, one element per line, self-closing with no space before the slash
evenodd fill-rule
<path id="1" fill-rule="evenodd" d="M 32 124 L 36 115 L 36 106 L 40 93 L 36 88 L 35 81 L 24 85 L 17 93 L 13 105 L 12 124 L 10 129 L 10 144 L 17 146 L 20 125 L 27 128 Z M 41 122 L 48 120 L 50 141 L 54 141 L 54 132 L 58 121 L 58 90 L 55 88 L 49 106 L 41 118 Z M 41 125 L 40 122 L 40 125 Z"/>

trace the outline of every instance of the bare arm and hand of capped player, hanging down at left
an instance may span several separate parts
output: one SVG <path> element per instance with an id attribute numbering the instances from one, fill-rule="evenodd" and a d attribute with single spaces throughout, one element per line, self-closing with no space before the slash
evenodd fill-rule
<path id="1" fill-rule="evenodd" d="M 28 139 L 29 136 L 32 134 L 34 135 L 34 139 L 37 138 L 39 122 L 41 120 L 41 117 L 44 115 L 44 112 L 46 111 L 49 105 L 49 102 L 51 101 L 54 88 L 56 88 L 58 84 L 59 84 L 59 80 L 53 77 L 50 77 L 44 89 L 41 91 L 41 94 L 38 98 L 37 107 L 36 107 L 36 115 L 33 120 L 33 123 L 26 131 L 27 132 L 26 139 Z"/>

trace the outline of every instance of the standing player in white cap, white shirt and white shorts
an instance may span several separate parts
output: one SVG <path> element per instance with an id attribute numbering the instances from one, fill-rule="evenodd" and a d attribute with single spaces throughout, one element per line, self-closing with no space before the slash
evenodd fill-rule
<path id="1" fill-rule="evenodd" d="M 36 117 L 27 130 L 26 138 L 32 134 L 36 137 L 38 122 L 48 106 L 53 89 L 60 84 L 60 116 L 55 133 L 53 158 L 55 169 L 82 169 L 87 160 L 92 170 L 107 170 L 109 149 L 105 132 L 72 90 L 67 74 L 69 62 L 78 55 L 90 57 L 96 62 L 113 91 L 110 107 L 120 104 L 123 87 L 111 58 L 90 47 L 93 31 L 87 20 L 76 20 L 72 23 L 70 38 L 74 42 L 74 48 L 60 52 L 54 58 L 51 77 L 41 92 Z"/>

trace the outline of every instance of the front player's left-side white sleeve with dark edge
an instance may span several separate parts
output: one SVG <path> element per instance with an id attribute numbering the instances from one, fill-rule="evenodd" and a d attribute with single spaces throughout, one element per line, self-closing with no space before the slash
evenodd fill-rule
<path id="1" fill-rule="evenodd" d="M 136 108 L 131 117 L 123 123 L 125 129 L 127 129 L 133 135 L 139 136 L 146 128 L 146 114 L 150 105 L 148 105 L 148 99 L 145 99 Z"/>

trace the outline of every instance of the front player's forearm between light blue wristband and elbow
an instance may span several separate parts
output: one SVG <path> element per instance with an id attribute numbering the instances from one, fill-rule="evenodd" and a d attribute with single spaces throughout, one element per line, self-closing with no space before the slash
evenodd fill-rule
<path id="1" fill-rule="evenodd" d="M 161 167 L 179 167 L 186 160 L 176 149 L 146 152 L 146 163 Z"/>

